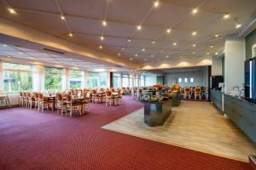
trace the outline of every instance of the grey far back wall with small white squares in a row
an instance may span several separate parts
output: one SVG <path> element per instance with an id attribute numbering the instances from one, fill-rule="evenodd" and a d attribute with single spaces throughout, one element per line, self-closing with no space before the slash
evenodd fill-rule
<path id="1" fill-rule="evenodd" d="M 168 86 L 172 86 L 172 82 L 175 78 L 182 78 L 183 82 L 177 82 L 181 87 L 195 87 L 208 85 L 207 68 L 203 71 L 189 71 L 189 72 L 175 72 L 165 74 L 165 83 Z M 190 77 L 194 78 L 194 82 L 190 82 Z M 184 78 L 188 78 L 188 82 L 184 82 Z"/>

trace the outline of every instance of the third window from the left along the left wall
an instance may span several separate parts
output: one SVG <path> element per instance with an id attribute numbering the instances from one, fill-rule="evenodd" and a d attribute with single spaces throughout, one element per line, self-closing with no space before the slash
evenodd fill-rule
<path id="1" fill-rule="evenodd" d="M 84 77 L 83 71 L 69 71 L 69 86 L 73 89 L 82 88 L 82 81 Z"/>

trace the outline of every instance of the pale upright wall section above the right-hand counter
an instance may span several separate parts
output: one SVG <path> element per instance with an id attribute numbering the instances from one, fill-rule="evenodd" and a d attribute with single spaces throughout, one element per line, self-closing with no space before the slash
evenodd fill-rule
<path id="1" fill-rule="evenodd" d="M 224 81 L 225 93 L 244 83 L 245 39 L 230 35 L 225 40 Z"/>

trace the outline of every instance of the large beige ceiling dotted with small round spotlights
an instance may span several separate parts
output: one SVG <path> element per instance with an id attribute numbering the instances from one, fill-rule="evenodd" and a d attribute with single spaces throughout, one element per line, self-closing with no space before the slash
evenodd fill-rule
<path id="1" fill-rule="evenodd" d="M 224 37 L 239 31 L 236 24 L 242 26 L 256 12 L 255 0 L 158 2 L 155 8 L 153 0 L 3 0 L 0 17 L 142 67 L 158 67 L 211 59 L 224 50 Z M 230 18 L 224 19 L 224 14 Z"/>

